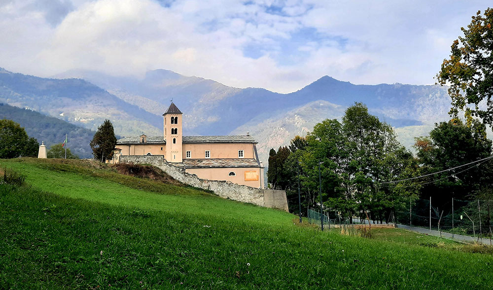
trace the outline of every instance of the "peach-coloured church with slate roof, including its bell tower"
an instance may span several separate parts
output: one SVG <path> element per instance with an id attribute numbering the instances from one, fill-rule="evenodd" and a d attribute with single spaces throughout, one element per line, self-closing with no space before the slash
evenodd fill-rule
<path id="1" fill-rule="evenodd" d="M 118 139 L 108 163 L 123 155 L 163 155 L 166 162 L 199 178 L 224 180 L 264 188 L 264 167 L 255 140 L 247 133 L 235 136 L 183 136 L 181 111 L 172 102 L 163 114 L 163 136 Z"/>

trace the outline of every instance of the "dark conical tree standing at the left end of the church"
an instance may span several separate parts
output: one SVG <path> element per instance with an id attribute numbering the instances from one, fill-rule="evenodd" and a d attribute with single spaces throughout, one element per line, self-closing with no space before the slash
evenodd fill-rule
<path id="1" fill-rule="evenodd" d="M 105 162 L 106 159 L 110 159 L 113 156 L 116 137 L 113 124 L 108 119 L 98 127 L 98 131 L 94 134 L 93 140 L 91 140 L 89 145 L 91 145 L 94 158 L 97 160 Z"/>

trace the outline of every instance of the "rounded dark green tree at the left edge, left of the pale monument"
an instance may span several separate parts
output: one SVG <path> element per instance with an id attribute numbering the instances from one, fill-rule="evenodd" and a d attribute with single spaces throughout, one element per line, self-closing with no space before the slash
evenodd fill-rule
<path id="1" fill-rule="evenodd" d="M 39 144 L 18 123 L 0 120 L 0 158 L 35 157 Z"/>

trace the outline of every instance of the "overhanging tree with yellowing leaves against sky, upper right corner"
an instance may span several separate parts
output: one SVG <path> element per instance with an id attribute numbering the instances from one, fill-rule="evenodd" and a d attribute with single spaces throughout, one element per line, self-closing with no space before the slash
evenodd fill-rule
<path id="1" fill-rule="evenodd" d="M 467 29 L 461 30 L 464 36 L 454 41 L 450 58 L 443 60 L 436 78 L 442 86 L 450 84 L 449 114 L 457 117 L 461 110 L 468 120 L 477 116 L 493 125 L 493 9 L 486 9 L 484 15 L 478 11 Z M 483 100 L 486 110 L 480 108 Z"/>

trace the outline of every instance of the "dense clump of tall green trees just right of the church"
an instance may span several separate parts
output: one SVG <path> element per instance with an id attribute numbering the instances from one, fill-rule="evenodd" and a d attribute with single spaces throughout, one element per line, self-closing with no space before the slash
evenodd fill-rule
<path id="1" fill-rule="evenodd" d="M 361 103 L 349 107 L 342 122 L 326 119 L 306 138 L 295 137 L 290 148 L 283 172 L 291 212 L 299 211 L 298 171 L 303 207 L 319 206 L 319 162 L 322 202 L 332 215 L 357 213 L 364 218 L 369 211 L 374 219 L 382 220 L 402 207 L 404 199 L 417 194 L 416 187 L 408 186 L 411 182 L 378 186 L 416 174 L 418 164 L 396 141 L 393 129 Z"/>

